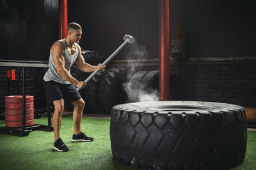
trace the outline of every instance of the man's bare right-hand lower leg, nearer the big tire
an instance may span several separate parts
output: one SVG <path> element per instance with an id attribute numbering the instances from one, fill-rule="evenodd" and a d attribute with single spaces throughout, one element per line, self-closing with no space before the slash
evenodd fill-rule
<path id="1" fill-rule="evenodd" d="M 78 134 L 79 132 L 81 132 L 81 121 L 83 117 L 83 109 L 85 104 L 83 99 L 73 101 L 72 104 L 74 104 L 74 111 L 73 111 L 74 134 Z"/>

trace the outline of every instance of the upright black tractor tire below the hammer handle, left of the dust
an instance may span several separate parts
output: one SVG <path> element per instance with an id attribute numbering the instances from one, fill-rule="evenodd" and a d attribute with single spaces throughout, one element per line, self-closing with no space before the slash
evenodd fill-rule
<path id="1" fill-rule="evenodd" d="M 127 76 L 123 67 L 111 67 L 102 73 L 99 84 L 99 100 L 104 113 L 111 113 L 116 104 L 127 103 L 124 82 Z"/>

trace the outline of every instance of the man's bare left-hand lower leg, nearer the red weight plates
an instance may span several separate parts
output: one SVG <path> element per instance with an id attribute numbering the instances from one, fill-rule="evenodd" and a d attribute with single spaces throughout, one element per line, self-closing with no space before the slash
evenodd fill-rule
<path id="1" fill-rule="evenodd" d="M 60 127 L 61 127 L 61 115 L 64 110 L 63 99 L 56 100 L 54 104 L 54 113 L 52 115 L 52 127 L 54 131 L 54 141 L 60 138 Z"/>

